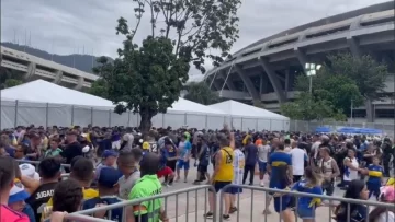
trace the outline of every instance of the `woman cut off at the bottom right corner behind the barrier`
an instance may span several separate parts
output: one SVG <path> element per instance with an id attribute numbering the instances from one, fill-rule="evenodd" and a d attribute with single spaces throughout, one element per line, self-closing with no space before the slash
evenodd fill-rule
<path id="1" fill-rule="evenodd" d="M 382 187 L 381 195 L 380 195 L 381 202 L 387 202 L 393 205 L 392 208 L 385 207 L 376 207 L 372 212 L 369 214 L 369 222 L 387 222 L 387 221 L 395 221 L 395 188 L 394 186 L 385 186 Z"/>

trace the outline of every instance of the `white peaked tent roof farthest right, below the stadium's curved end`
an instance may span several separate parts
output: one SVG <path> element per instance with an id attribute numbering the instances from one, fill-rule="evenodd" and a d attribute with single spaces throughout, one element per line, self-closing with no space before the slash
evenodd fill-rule
<path id="1" fill-rule="evenodd" d="M 222 103 L 216 103 L 210 105 L 208 107 L 219 109 L 232 116 L 240 116 L 246 118 L 251 117 L 251 118 L 290 120 L 290 118 L 285 116 L 232 100 Z"/>

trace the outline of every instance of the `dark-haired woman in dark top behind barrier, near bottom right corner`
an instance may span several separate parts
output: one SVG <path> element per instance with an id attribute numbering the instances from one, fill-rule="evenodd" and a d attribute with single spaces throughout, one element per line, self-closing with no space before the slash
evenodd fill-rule
<path id="1" fill-rule="evenodd" d="M 349 182 L 345 198 L 368 200 L 369 190 L 365 183 L 360 179 Z M 340 202 L 335 210 L 335 219 L 337 222 L 365 222 L 366 213 L 368 208 L 363 205 Z"/>

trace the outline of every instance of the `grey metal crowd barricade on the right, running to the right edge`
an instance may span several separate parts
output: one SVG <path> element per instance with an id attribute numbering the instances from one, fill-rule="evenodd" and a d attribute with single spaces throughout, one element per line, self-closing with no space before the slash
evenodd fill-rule
<path id="1" fill-rule="evenodd" d="M 266 188 L 266 187 L 257 187 L 257 186 L 245 186 L 245 185 L 227 185 L 223 188 L 223 190 L 229 189 L 229 188 L 242 188 L 242 194 L 236 195 L 236 202 L 235 207 L 238 209 L 237 212 L 230 215 L 232 221 L 237 222 L 274 222 L 274 221 L 283 221 L 281 215 L 276 212 L 274 212 L 273 209 L 269 209 L 269 206 L 273 206 L 274 201 L 272 199 L 272 195 L 279 195 L 280 197 L 280 206 L 282 203 L 282 197 L 284 195 L 291 196 L 292 198 L 295 198 L 295 205 L 294 209 L 297 209 L 298 201 L 297 199 L 301 197 L 312 197 L 312 198 L 319 198 L 323 201 L 328 200 L 329 202 L 346 202 L 347 203 L 347 221 L 350 220 L 350 205 L 357 203 L 357 205 L 363 205 L 368 208 L 368 214 L 366 220 L 369 221 L 369 212 L 373 210 L 372 207 L 384 207 L 386 209 L 386 222 L 393 222 L 388 220 L 388 211 L 395 210 L 394 203 L 384 203 L 379 201 L 370 201 L 370 200 L 358 200 L 358 199 L 350 199 L 350 198 L 342 198 L 342 197 L 332 197 L 332 196 L 326 196 L 326 195 L 313 195 L 313 194 L 306 194 L 306 192 L 297 192 L 297 191 L 291 191 L 291 190 L 282 190 L 282 189 L 272 189 L 272 188 Z M 240 196 L 245 196 L 246 191 L 250 190 L 250 198 L 240 198 Z M 222 215 L 224 212 L 224 192 L 221 192 L 221 199 L 219 201 L 219 210 L 218 214 Z M 240 200 L 242 199 L 242 200 Z M 269 201 L 267 201 L 269 200 Z M 242 203 L 240 202 L 242 201 Z M 270 205 L 269 205 L 270 203 Z M 272 211 L 272 213 L 262 213 L 262 211 Z M 334 205 L 329 206 L 321 206 L 316 209 L 315 218 L 316 221 L 335 221 L 332 218 L 335 217 L 332 210 L 335 210 Z M 318 220 L 317 220 L 318 219 Z M 224 219 L 222 217 L 218 218 L 219 222 L 223 222 Z M 295 210 L 295 219 L 293 220 L 295 222 L 302 221 L 302 219 L 296 217 L 296 210 Z"/>

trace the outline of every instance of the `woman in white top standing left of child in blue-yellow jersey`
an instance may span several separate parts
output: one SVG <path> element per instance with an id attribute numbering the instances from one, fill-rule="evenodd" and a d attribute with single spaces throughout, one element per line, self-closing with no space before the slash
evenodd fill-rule
<path id="1" fill-rule="evenodd" d="M 343 185 L 347 187 L 351 180 L 358 179 L 358 172 L 362 171 L 359 168 L 359 163 L 356 157 L 356 150 L 348 149 L 347 156 L 343 160 L 345 173 L 343 173 Z"/>

